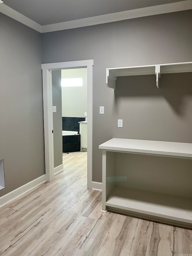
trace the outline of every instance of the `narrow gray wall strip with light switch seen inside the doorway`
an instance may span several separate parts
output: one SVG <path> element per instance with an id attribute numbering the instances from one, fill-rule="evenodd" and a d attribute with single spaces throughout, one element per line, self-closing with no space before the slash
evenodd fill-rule
<path id="1" fill-rule="evenodd" d="M 54 167 L 57 167 L 63 163 L 61 70 L 52 71 L 52 101 L 57 107 L 57 112 L 53 113 Z"/>

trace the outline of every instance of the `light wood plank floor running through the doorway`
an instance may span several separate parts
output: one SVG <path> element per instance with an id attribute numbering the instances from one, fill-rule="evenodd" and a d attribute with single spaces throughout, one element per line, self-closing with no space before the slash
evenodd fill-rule
<path id="1" fill-rule="evenodd" d="M 86 188 L 86 152 L 64 154 L 64 171 L 0 208 L 0 255 L 192 255 L 192 230 L 101 213 Z"/>

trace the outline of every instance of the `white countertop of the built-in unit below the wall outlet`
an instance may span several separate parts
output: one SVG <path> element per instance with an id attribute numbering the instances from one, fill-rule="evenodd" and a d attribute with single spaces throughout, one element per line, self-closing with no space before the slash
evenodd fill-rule
<path id="1" fill-rule="evenodd" d="M 191 143 L 113 138 L 99 145 L 99 148 L 114 151 L 192 158 Z"/>

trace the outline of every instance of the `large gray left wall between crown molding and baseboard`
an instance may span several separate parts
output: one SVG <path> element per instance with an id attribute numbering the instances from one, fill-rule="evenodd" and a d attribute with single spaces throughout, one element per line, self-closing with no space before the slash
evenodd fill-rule
<path id="1" fill-rule="evenodd" d="M 45 173 L 41 34 L 0 13 L 0 196 Z"/>

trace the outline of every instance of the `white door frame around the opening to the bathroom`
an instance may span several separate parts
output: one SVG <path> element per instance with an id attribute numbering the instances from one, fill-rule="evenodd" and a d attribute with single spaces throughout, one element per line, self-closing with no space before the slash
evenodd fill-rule
<path id="1" fill-rule="evenodd" d="M 45 174 L 46 181 L 54 179 L 53 156 L 53 112 L 52 112 L 52 70 L 66 68 L 87 68 L 87 188 L 92 188 L 92 150 L 93 150 L 93 60 L 57 62 L 42 64 L 43 71 L 43 109 L 45 140 Z"/>

